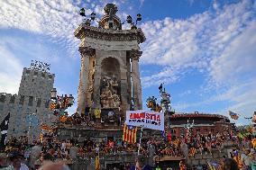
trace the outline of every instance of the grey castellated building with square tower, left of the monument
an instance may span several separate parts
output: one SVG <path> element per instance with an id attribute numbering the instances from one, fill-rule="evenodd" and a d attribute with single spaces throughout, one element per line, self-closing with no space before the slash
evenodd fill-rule
<path id="1" fill-rule="evenodd" d="M 36 68 L 23 68 L 18 94 L 0 94 L 0 121 L 10 112 L 8 137 L 39 137 L 41 123 L 50 124 L 50 90 L 54 74 Z"/>

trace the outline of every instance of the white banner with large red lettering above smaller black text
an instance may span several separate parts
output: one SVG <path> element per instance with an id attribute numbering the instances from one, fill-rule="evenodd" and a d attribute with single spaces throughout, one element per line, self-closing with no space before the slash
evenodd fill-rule
<path id="1" fill-rule="evenodd" d="M 151 111 L 126 111 L 127 125 L 142 126 L 151 130 L 164 130 L 164 113 Z"/>

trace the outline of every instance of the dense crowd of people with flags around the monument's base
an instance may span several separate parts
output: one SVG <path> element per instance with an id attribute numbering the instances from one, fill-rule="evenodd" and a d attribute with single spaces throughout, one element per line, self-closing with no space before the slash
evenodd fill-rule
<path id="1" fill-rule="evenodd" d="M 153 166 L 157 165 L 160 157 L 181 157 L 187 159 L 195 157 L 195 154 L 212 156 L 213 149 L 224 152 L 224 145 L 232 143 L 233 157 L 240 168 L 247 169 L 256 160 L 255 148 L 253 148 L 251 137 L 239 138 L 230 133 L 209 133 L 202 135 L 187 135 L 178 139 L 166 139 L 163 137 L 142 138 L 140 153 L 151 157 Z M 19 138 L 11 137 L 6 145 L 5 153 L 9 165 L 14 165 L 15 157 L 23 157 L 24 163 L 32 168 L 41 166 L 45 161 L 64 161 L 65 164 L 73 164 L 78 159 L 93 162 L 96 156 L 104 159 L 106 156 L 118 154 L 134 154 L 138 151 L 139 143 L 130 144 L 122 139 L 65 139 L 59 140 L 56 133 L 45 133 L 41 140 L 29 139 L 26 136 Z M 5 157 L 4 157 L 5 158 Z M 5 164 L 0 165 L 4 166 Z M 7 160 L 7 159 L 6 159 Z M 20 160 L 20 159 L 19 159 Z M 5 162 L 5 161 L 4 161 Z M 6 162 L 5 162 L 6 163 Z M 7 163 L 6 163 L 7 164 Z M 18 162 L 18 164 L 20 164 Z M 25 166 L 25 164 L 23 166 Z"/>

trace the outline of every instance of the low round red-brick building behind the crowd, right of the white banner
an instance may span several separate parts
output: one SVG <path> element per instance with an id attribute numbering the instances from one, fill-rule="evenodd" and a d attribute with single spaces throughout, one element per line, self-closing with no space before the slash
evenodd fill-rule
<path id="1" fill-rule="evenodd" d="M 231 131 L 233 127 L 230 120 L 219 114 L 206 113 L 176 113 L 170 117 L 170 129 L 173 137 L 187 135 L 187 125 L 190 126 L 189 132 L 192 135 L 197 133 L 206 135 L 209 133 L 216 134 L 218 132 Z"/>

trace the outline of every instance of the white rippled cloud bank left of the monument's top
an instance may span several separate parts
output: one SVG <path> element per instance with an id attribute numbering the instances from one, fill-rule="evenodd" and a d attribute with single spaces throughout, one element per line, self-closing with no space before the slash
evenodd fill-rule
<path id="1" fill-rule="evenodd" d="M 78 49 L 78 40 L 73 35 L 82 22 L 78 4 L 68 0 L 1 1 L 0 4 L 0 29 L 14 28 L 46 35 L 50 41 L 58 42 L 70 53 Z M 95 8 L 86 8 L 86 14 L 97 9 L 101 7 L 96 5 Z"/>

